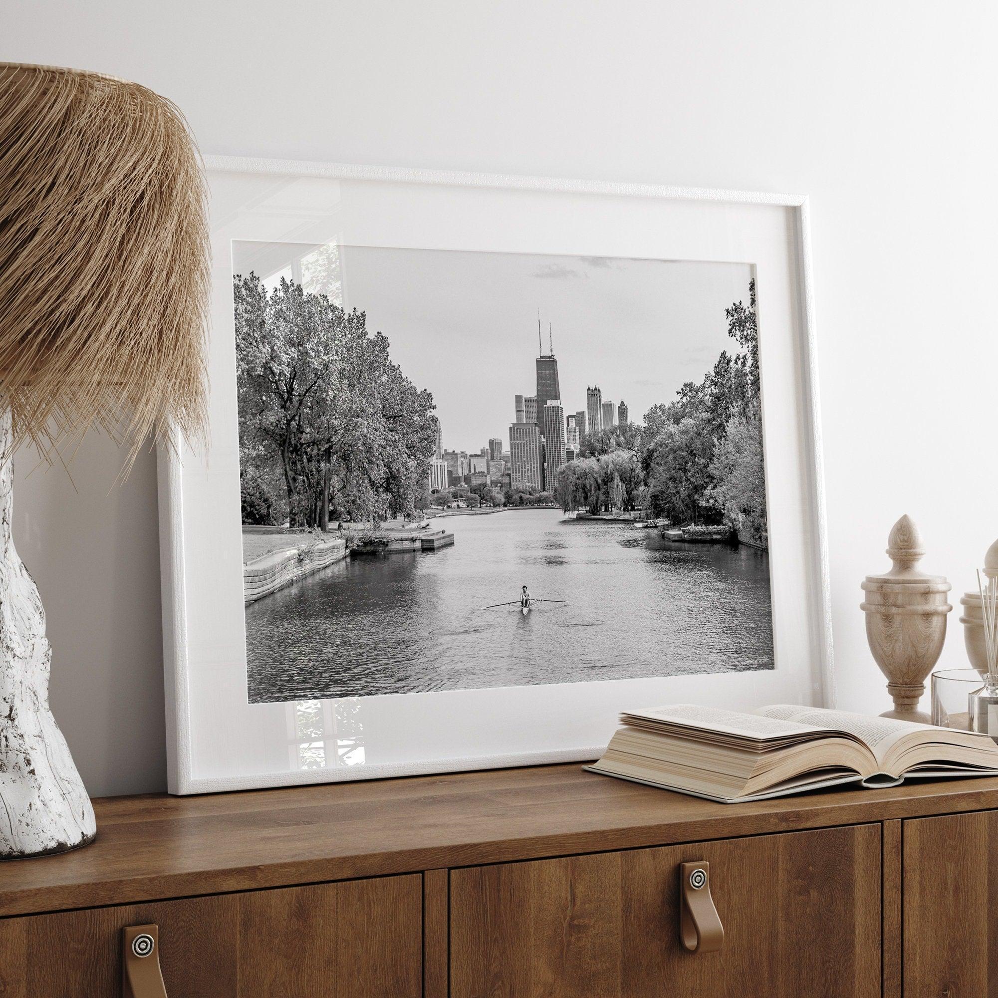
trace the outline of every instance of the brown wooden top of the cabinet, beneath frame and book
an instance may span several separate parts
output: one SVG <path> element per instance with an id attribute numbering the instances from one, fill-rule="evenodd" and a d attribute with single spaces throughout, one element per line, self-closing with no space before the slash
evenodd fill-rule
<path id="1" fill-rule="evenodd" d="M 575 764 L 96 802 L 98 838 L 0 863 L 0 916 L 998 807 L 998 779 L 748 804 Z"/>

